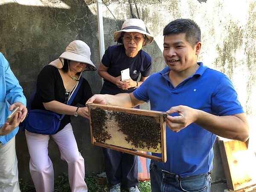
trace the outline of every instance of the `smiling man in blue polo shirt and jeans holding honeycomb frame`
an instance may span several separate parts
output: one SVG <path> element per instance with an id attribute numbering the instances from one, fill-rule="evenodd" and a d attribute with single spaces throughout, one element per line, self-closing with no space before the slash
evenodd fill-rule
<path id="1" fill-rule="evenodd" d="M 197 62 L 201 30 L 193 20 L 170 22 L 163 36 L 166 68 L 133 93 L 94 95 L 87 103 L 134 107 L 150 101 L 151 110 L 169 113 L 167 162 L 151 160 L 152 192 L 210 192 L 216 135 L 246 141 L 247 119 L 230 79 Z"/>

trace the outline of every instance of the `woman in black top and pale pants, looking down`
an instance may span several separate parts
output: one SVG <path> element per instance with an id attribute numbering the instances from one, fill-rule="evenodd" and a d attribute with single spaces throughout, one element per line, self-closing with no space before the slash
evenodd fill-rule
<path id="1" fill-rule="evenodd" d="M 51 135 L 57 143 L 61 159 L 67 161 L 68 177 L 72 192 L 87 192 L 84 182 L 84 158 L 81 156 L 73 134 L 70 116 L 88 118 L 87 99 L 93 94 L 86 79 L 81 75 L 85 70 L 96 70 L 90 60 L 90 47 L 80 40 L 72 41 L 61 56 L 45 66 L 38 75 L 36 93 L 31 109 L 49 110 L 65 114 L 61 120 L 57 133 Z M 67 105 L 68 98 L 82 79 L 76 96 L 71 105 Z M 26 141 L 29 148 L 29 170 L 37 192 L 53 192 L 54 172 L 52 161 L 48 156 L 48 142 L 50 135 L 36 134 L 26 131 Z"/>

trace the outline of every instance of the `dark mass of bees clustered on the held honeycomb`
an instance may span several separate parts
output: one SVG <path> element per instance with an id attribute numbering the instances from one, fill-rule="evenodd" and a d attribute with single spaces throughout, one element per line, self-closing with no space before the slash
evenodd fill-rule
<path id="1" fill-rule="evenodd" d="M 153 116 L 106 111 L 100 108 L 91 109 L 90 113 L 93 137 L 97 142 L 105 143 L 110 140 L 113 136 L 110 130 L 117 126 L 117 134 L 124 134 L 126 142 L 135 149 L 153 148 L 158 151 L 161 147 L 160 121 Z"/>

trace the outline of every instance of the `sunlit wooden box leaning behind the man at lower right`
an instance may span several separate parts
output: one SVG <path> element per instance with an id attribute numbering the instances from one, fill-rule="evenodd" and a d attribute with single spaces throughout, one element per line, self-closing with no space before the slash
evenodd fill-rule
<path id="1" fill-rule="evenodd" d="M 235 191 L 256 184 L 256 154 L 248 141 L 218 138 L 221 159 L 229 189 Z"/>

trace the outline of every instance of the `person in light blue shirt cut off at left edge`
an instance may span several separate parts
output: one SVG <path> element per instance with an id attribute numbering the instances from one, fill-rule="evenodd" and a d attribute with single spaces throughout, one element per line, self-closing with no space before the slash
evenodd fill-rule
<path id="1" fill-rule="evenodd" d="M 7 116 L 17 107 L 19 112 L 11 122 L 6 122 Z M 26 113 L 23 89 L 0 52 L 0 192 L 20 192 L 15 135 Z"/>

